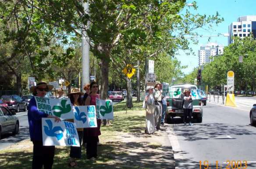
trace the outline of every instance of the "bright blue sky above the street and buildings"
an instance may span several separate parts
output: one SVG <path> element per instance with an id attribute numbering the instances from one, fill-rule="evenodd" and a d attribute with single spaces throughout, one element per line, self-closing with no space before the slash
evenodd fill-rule
<path id="1" fill-rule="evenodd" d="M 187 0 L 187 3 L 192 3 L 194 0 Z M 224 18 L 224 21 L 214 25 L 212 30 L 199 29 L 197 32 L 203 36 L 217 35 L 218 33 L 228 33 L 228 26 L 237 21 L 238 17 L 246 15 L 256 15 L 256 0 L 195 0 L 198 9 L 195 11 L 198 14 L 215 15 L 218 11 L 220 17 Z M 192 7 L 187 7 L 192 9 Z M 194 13 L 194 12 L 193 12 Z M 180 50 L 177 59 L 181 62 L 182 66 L 188 66 L 188 68 L 182 71 L 185 74 L 192 72 L 192 70 L 198 66 L 198 50 L 201 45 L 208 43 L 208 37 L 198 38 L 197 45 L 191 44 L 190 47 L 195 52 L 195 55 L 186 55 L 185 51 Z M 228 45 L 228 37 L 219 36 L 211 37 L 210 42 L 217 42 L 219 45 Z"/>

